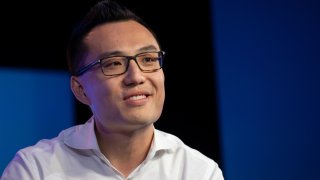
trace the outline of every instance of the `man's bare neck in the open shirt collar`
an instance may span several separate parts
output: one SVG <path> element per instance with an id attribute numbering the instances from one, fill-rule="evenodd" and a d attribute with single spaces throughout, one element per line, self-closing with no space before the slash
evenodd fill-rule
<path id="1" fill-rule="evenodd" d="M 129 132 L 106 132 L 96 128 L 96 135 L 102 154 L 118 171 L 128 176 L 146 158 L 153 130 L 152 124 Z"/>

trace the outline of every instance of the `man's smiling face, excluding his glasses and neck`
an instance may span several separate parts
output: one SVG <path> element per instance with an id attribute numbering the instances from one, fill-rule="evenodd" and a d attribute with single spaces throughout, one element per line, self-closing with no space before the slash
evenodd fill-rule
<path id="1" fill-rule="evenodd" d="M 85 64 L 111 54 L 134 56 L 160 50 L 151 32 L 135 21 L 95 27 L 84 43 L 88 47 Z M 125 74 L 109 77 L 96 65 L 72 81 L 77 81 L 83 92 L 83 97 L 77 98 L 90 106 L 97 125 L 106 131 L 130 131 L 150 125 L 162 112 L 165 98 L 162 69 L 144 73 L 130 61 Z"/>

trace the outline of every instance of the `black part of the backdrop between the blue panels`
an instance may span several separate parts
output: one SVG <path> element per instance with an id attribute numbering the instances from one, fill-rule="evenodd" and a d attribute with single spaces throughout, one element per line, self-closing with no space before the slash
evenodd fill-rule
<path id="1" fill-rule="evenodd" d="M 156 127 L 177 135 L 219 163 L 210 1 L 121 2 L 145 19 L 167 53 L 166 102 Z M 94 3 L 75 0 L 2 3 L 0 66 L 67 71 L 67 38 Z M 75 124 L 85 122 L 90 111 L 77 101 L 75 106 Z"/>

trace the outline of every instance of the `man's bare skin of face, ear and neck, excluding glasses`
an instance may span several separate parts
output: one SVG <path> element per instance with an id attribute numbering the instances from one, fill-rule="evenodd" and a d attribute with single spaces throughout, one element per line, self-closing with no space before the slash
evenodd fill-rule
<path id="1" fill-rule="evenodd" d="M 131 20 L 97 26 L 84 43 L 88 46 L 85 64 L 110 55 L 133 56 L 160 50 L 151 32 Z M 130 61 L 125 74 L 108 77 L 97 65 L 79 77 L 72 76 L 71 89 L 92 110 L 101 152 L 128 176 L 145 159 L 153 138 L 153 123 L 162 112 L 162 69 L 144 73 Z"/>

